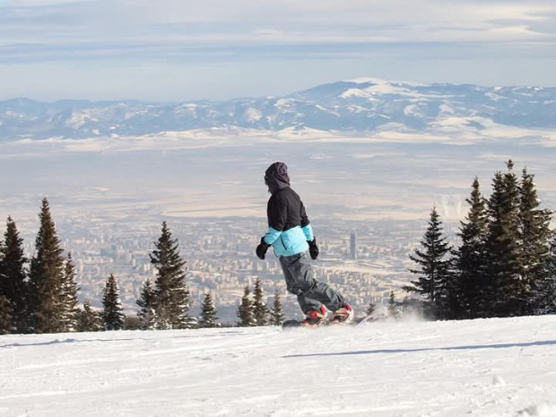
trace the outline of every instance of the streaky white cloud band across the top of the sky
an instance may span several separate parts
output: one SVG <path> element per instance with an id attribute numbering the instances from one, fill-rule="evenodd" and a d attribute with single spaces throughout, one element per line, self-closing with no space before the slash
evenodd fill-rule
<path id="1" fill-rule="evenodd" d="M 556 4 L 439 0 L 15 0 L 4 5 L 4 45 L 168 48 L 556 39 Z M 96 55 L 92 54 L 91 58 Z M 40 56 L 42 58 L 42 56 Z"/>

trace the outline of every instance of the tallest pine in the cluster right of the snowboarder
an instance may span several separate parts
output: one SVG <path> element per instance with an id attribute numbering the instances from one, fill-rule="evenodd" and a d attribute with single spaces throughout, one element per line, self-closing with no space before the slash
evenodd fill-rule
<path id="1" fill-rule="evenodd" d="M 494 175 L 488 202 L 487 278 L 482 317 L 517 316 L 526 306 L 526 287 L 521 279 L 519 184 L 513 172 L 514 163 L 510 160 L 507 166 L 507 173 Z"/>

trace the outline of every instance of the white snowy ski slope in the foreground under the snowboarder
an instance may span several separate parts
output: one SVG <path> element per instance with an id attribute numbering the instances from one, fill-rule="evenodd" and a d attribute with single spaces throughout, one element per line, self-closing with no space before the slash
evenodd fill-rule
<path id="1" fill-rule="evenodd" d="M 0 336 L 2 416 L 556 416 L 556 316 Z"/>

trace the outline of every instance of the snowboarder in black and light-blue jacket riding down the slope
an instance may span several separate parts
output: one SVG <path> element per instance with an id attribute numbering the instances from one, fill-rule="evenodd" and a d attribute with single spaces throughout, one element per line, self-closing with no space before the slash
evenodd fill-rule
<path id="1" fill-rule="evenodd" d="M 256 247 L 256 256 L 265 259 L 268 248 L 274 248 L 274 255 L 278 256 L 282 265 L 287 289 L 297 295 L 306 316 L 301 325 L 322 324 L 329 310 L 334 311 L 333 322 L 352 321 L 353 309 L 343 296 L 313 277 L 308 257 L 317 259 L 317 239 L 300 196 L 290 187 L 285 163 L 274 162 L 266 169 L 265 185 L 271 194 L 266 206 L 268 231 Z"/>

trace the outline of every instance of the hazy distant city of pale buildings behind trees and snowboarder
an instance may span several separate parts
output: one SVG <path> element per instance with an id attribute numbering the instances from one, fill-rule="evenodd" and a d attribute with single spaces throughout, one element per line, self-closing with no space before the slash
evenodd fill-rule
<path id="1" fill-rule="evenodd" d="M 56 217 L 56 213 L 55 213 Z M 282 270 L 270 252 L 265 261 L 255 256 L 260 238 L 250 230 L 261 229 L 260 219 L 165 219 L 180 254 L 187 261 L 187 279 L 198 313 L 204 293 L 211 291 L 222 323 L 237 321 L 236 312 L 246 285 L 259 277 L 268 305 L 281 295 L 285 312 L 300 315 L 295 297 L 288 296 Z M 146 279 L 154 281 L 149 254 L 160 236 L 161 222 L 110 222 L 108 218 L 63 216 L 56 222 L 63 246 L 71 251 L 81 286 L 80 299 L 100 308 L 105 280 L 114 274 L 126 314 L 135 314 L 135 300 Z M 390 291 L 400 300 L 401 286 L 412 278 L 408 254 L 419 245 L 426 219 L 416 221 L 343 222 L 317 220 L 315 230 L 321 255 L 313 263 L 317 278 L 331 283 L 352 302 L 358 314 L 369 302 L 380 306 Z M 355 231 L 356 230 L 356 231 Z M 264 234 L 265 229 L 260 230 Z M 451 226 L 447 233 L 453 235 Z M 34 236 L 22 233 L 25 249 L 32 253 Z"/>

